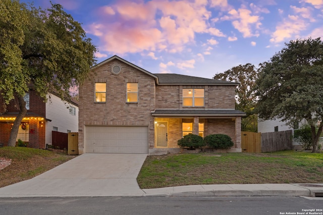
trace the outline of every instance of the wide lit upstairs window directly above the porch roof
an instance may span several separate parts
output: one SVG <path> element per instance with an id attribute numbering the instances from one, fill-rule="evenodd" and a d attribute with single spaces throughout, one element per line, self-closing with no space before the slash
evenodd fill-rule
<path id="1" fill-rule="evenodd" d="M 204 89 L 183 89 L 183 106 L 203 107 Z"/>

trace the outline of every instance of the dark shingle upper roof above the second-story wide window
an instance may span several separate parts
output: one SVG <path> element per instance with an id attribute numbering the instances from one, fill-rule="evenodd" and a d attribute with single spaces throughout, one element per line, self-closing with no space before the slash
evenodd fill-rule
<path id="1" fill-rule="evenodd" d="M 238 85 L 234 82 L 226 82 L 214 79 L 205 79 L 193 76 L 185 76 L 179 74 L 153 74 L 158 77 L 158 84 L 173 84 L 173 85 Z"/>

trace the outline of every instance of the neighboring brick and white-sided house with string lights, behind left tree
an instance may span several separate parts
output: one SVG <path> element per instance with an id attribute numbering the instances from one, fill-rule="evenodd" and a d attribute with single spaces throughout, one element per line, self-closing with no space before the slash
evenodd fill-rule
<path id="1" fill-rule="evenodd" d="M 19 126 L 16 140 L 21 139 L 30 148 L 45 149 L 46 144 L 51 145 L 52 131 L 77 132 L 77 103 L 62 101 L 54 93 L 48 94 L 47 102 L 44 102 L 33 90 L 24 96 L 24 100 L 27 113 Z M 0 100 L 0 103 L 4 101 Z M 0 108 L 0 143 L 4 146 L 8 144 L 18 111 L 16 99 L 9 103 L 7 109 L 4 109 L 4 106 Z"/>

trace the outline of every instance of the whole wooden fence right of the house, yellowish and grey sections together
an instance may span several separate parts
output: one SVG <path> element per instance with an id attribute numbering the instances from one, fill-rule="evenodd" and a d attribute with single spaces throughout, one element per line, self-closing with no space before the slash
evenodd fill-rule
<path id="1" fill-rule="evenodd" d="M 277 152 L 282 150 L 291 150 L 292 145 L 292 130 L 268 133 L 241 131 L 242 152 Z"/>

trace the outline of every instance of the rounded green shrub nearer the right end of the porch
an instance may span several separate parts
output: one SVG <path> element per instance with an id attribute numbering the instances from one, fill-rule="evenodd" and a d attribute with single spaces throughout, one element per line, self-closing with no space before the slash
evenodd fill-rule
<path id="1" fill-rule="evenodd" d="M 210 134 L 204 137 L 207 146 L 214 149 L 230 149 L 234 143 L 227 134 Z"/>

